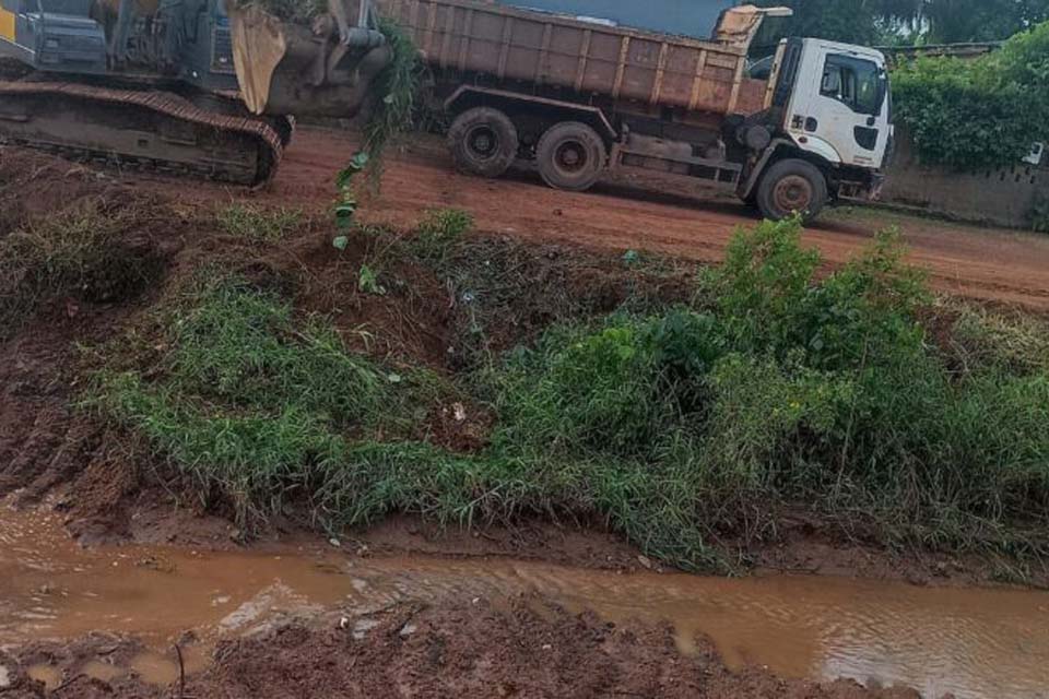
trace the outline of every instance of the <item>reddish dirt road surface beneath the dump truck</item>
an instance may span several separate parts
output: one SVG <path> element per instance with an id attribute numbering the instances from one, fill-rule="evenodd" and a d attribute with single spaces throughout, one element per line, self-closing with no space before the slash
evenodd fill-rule
<path id="1" fill-rule="evenodd" d="M 302 129 L 264 194 L 284 202 L 327 202 L 333 174 L 353 153 L 352 135 Z M 586 194 L 544 187 L 537 176 L 485 180 L 456 174 L 439 139 L 424 137 L 388 158 L 373 222 L 410 226 L 427 209 L 470 211 L 485 233 L 644 249 L 698 261 L 721 259 L 739 226 L 756 218 L 734 201 L 704 200 L 667 181 L 609 181 Z M 847 260 L 882 228 L 898 226 L 911 260 L 943 292 L 1049 312 L 1049 236 L 979 228 L 882 211 L 841 210 L 806 239 L 832 264 Z"/>

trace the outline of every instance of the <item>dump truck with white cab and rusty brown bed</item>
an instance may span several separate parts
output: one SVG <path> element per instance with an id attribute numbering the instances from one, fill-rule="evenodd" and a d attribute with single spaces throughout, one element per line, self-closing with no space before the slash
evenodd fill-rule
<path id="1" fill-rule="evenodd" d="M 518 7 L 520 5 L 520 7 Z M 893 135 L 885 57 L 811 38 L 752 61 L 789 9 L 731 0 L 384 0 L 414 37 L 458 167 L 532 162 L 582 191 L 609 169 L 734 192 L 779 220 L 869 200 Z M 647 22 L 646 20 L 650 20 Z M 671 33 L 698 33 L 699 38 Z"/>

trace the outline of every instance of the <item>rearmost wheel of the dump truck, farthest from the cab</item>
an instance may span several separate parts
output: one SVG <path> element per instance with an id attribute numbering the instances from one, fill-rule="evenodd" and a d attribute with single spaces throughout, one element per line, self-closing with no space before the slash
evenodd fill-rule
<path id="1" fill-rule="evenodd" d="M 498 109 L 474 107 L 459 115 L 448 130 L 456 167 L 470 175 L 499 177 L 517 157 L 517 127 Z"/>

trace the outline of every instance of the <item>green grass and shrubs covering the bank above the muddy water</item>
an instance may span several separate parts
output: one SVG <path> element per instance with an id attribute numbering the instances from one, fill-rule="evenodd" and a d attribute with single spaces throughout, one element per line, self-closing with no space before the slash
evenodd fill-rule
<path id="1" fill-rule="evenodd" d="M 468 220 L 428 222 L 439 245 L 417 252 L 453 269 Z M 133 339 L 98 351 L 90 404 L 245 526 L 292 502 L 333 529 L 391 511 L 599 517 L 709 569 L 726 566 L 722 535 L 803 508 L 884 543 L 1046 553 L 1049 331 L 931 311 L 892 234 L 821 279 L 800 234 L 740 233 L 694 303 L 557 322 L 458 386 L 354 354 L 271 292 L 211 281 L 168 304 L 161 342 L 138 341 L 149 359 Z M 469 453 L 420 429 L 457 394 L 495 418 Z"/>

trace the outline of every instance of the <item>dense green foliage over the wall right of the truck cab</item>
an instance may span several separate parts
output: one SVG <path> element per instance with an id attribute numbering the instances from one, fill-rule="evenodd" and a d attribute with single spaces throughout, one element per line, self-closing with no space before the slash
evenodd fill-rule
<path id="1" fill-rule="evenodd" d="M 900 120 L 923 163 L 1013 165 L 1049 141 L 1049 22 L 977 60 L 920 58 L 893 74 Z"/>

